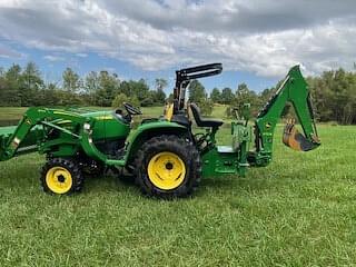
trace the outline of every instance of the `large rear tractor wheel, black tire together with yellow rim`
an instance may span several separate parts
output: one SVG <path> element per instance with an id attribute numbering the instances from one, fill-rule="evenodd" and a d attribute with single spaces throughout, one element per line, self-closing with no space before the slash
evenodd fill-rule
<path id="1" fill-rule="evenodd" d="M 136 182 L 148 196 L 186 197 L 200 182 L 200 156 L 195 146 L 177 136 L 149 139 L 136 158 Z"/>

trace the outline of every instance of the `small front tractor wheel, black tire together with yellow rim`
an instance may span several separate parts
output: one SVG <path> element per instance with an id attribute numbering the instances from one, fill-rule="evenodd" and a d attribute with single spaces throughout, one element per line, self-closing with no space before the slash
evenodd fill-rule
<path id="1" fill-rule="evenodd" d="M 73 160 L 51 158 L 42 168 L 41 185 L 47 192 L 69 195 L 82 189 L 83 177 Z"/>

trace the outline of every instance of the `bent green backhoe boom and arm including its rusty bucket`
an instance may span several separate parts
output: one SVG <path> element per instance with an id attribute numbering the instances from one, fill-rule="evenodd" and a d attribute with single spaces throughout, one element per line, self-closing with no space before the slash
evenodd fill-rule
<path id="1" fill-rule="evenodd" d="M 267 156 L 266 158 L 270 159 L 275 127 L 287 102 L 293 105 L 304 136 L 295 128 L 294 120 L 289 120 L 284 131 L 284 144 L 301 151 L 315 149 L 320 145 L 314 122 L 308 86 L 300 73 L 299 66 L 295 66 L 257 116 L 255 125 L 257 158 Z"/>

